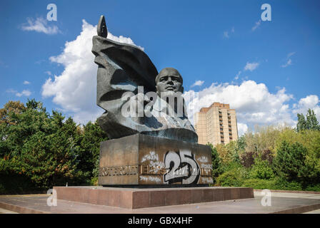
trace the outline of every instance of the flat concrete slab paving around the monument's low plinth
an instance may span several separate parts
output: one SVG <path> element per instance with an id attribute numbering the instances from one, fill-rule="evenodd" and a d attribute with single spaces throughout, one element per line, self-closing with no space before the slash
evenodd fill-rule
<path id="1" fill-rule="evenodd" d="M 57 200 L 56 207 L 47 205 L 48 195 L 0 196 L 0 208 L 19 213 L 54 214 L 268 214 L 316 213 L 320 209 L 320 195 L 306 193 L 271 192 L 271 206 L 261 204 L 261 192 L 254 199 L 183 204 L 166 207 L 124 209 L 96 204 Z"/>

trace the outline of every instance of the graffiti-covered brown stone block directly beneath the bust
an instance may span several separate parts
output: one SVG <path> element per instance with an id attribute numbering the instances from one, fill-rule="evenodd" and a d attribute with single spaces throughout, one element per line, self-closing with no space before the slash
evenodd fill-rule
<path id="1" fill-rule="evenodd" d="M 99 185 L 209 185 L 211 148 L 130 135 L 100 145 Z"/>

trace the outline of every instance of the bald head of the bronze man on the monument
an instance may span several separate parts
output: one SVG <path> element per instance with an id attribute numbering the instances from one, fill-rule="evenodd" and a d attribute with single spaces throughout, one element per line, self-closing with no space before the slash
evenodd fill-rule
<path id="1" fill-rule="evenodd" d="M 174 68 L 162 69 L 156 76 L 156 93 L 158 95 L 174 95 L 177 92 L 184 93 L 182 86 L 183 80 L 179 73 Z"/>

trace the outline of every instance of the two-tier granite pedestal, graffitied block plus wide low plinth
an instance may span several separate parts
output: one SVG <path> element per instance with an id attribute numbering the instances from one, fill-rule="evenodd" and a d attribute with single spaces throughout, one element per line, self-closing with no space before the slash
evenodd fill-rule
<path id="1" fill-rule="evenodd" d="M 99 187 L 54 187 L 57 199 L 137 209 L 253 198 L 247 187 L 209 187 L 211 148 L 149 135 L 100 145 Z"/>

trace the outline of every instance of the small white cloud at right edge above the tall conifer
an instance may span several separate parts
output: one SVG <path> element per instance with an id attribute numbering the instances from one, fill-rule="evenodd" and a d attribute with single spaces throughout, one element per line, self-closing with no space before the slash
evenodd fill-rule
<path id="1" fill-rule="evenodd" d="M 316 118 L 320 120 L 320 105 L 317 95 L 307 95 L 305 98 L 301 98 L 298 103 L 293 105 L 293 113 L 302 113 L 306 116 L 308 109 L 314 110 Z"/>

